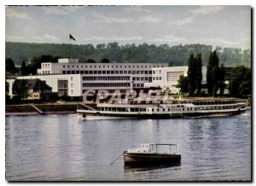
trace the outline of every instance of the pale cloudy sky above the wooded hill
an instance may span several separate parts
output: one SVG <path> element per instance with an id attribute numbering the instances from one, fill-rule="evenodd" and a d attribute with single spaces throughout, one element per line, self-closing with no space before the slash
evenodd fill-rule
<path id="1" fill-rule="evenodd" d="M 251 45 L 250 6 L 10 6 L 5 15 L 12 42 Z"/>

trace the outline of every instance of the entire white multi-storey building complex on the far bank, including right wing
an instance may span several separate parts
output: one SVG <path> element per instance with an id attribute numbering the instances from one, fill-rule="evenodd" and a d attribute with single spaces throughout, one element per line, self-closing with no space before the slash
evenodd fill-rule
<path id="1" fill-rule="evenodd" d="M 83 96 L 86 90 L 108 90 L 111 94 L 115 90 L 124 93 L 144 88 L 169 89 L 176 94 L 177 80 L 181 75 L 187 76 L 187 72 L 188 67 L 168 67 L 167 63 L 79 63 L 78 59 L 59 59 L 58 63 L 42 63 L 38 75 L 18 78 L 40 78 L 58 96 Z M 201 84 L 201 91 L 207 93 L 205 66 Z"/>

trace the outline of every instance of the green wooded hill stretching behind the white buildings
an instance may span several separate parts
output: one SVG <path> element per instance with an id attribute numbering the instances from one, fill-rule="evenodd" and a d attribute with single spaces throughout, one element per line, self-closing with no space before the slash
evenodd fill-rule
<path id="1" fill-rule="evenodd" d="M 29 44 L 5 43 L 5 58 L 11 58 L 16 65 L 22 61 L 31 61 L 33 57 L 54 55 L 78 58 L 80 62 L 92 59 L 102 61 L 107 58 L 116 62 L 167 62 L 170 66 L 187 66 L 191 52 L 201 52 L 202 65 L 207 65 L 209 54 L 216 49 L 219 63 L 224 67 L 244 65 L 251 67 L 251 50 L 235 48 L 213 48 L 206 44 L 185 44 L 170 46 L 168 44 L 126 44 L 116 42 L 108 44 Z"/>

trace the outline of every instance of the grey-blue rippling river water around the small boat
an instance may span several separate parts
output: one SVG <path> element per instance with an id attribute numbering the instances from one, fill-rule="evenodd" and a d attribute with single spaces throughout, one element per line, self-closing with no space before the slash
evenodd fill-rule
<path id="1" fill-rule="evenodd" d="M 178 166 L 124 166 L 139 143 L 177 143 Z M 6 117 L 8 181 L 250 181 L 251 111 L 211 119 Z"/>

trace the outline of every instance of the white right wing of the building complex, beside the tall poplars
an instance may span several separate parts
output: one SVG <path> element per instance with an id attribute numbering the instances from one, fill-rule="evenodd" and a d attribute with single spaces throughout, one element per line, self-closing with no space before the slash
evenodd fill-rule
<path id="1" fill-rule="evenodd" d="M 177 80 L 181 75 L 187 76 L 188 67 L 154 67 L 152 82 L 145 83 L 145 87 L 160 87 L 162 90 L 169 89 L 173 94 L 178 93 Z M 207 83 L 207 67 L 202 67 L 202 85 Z"/>

